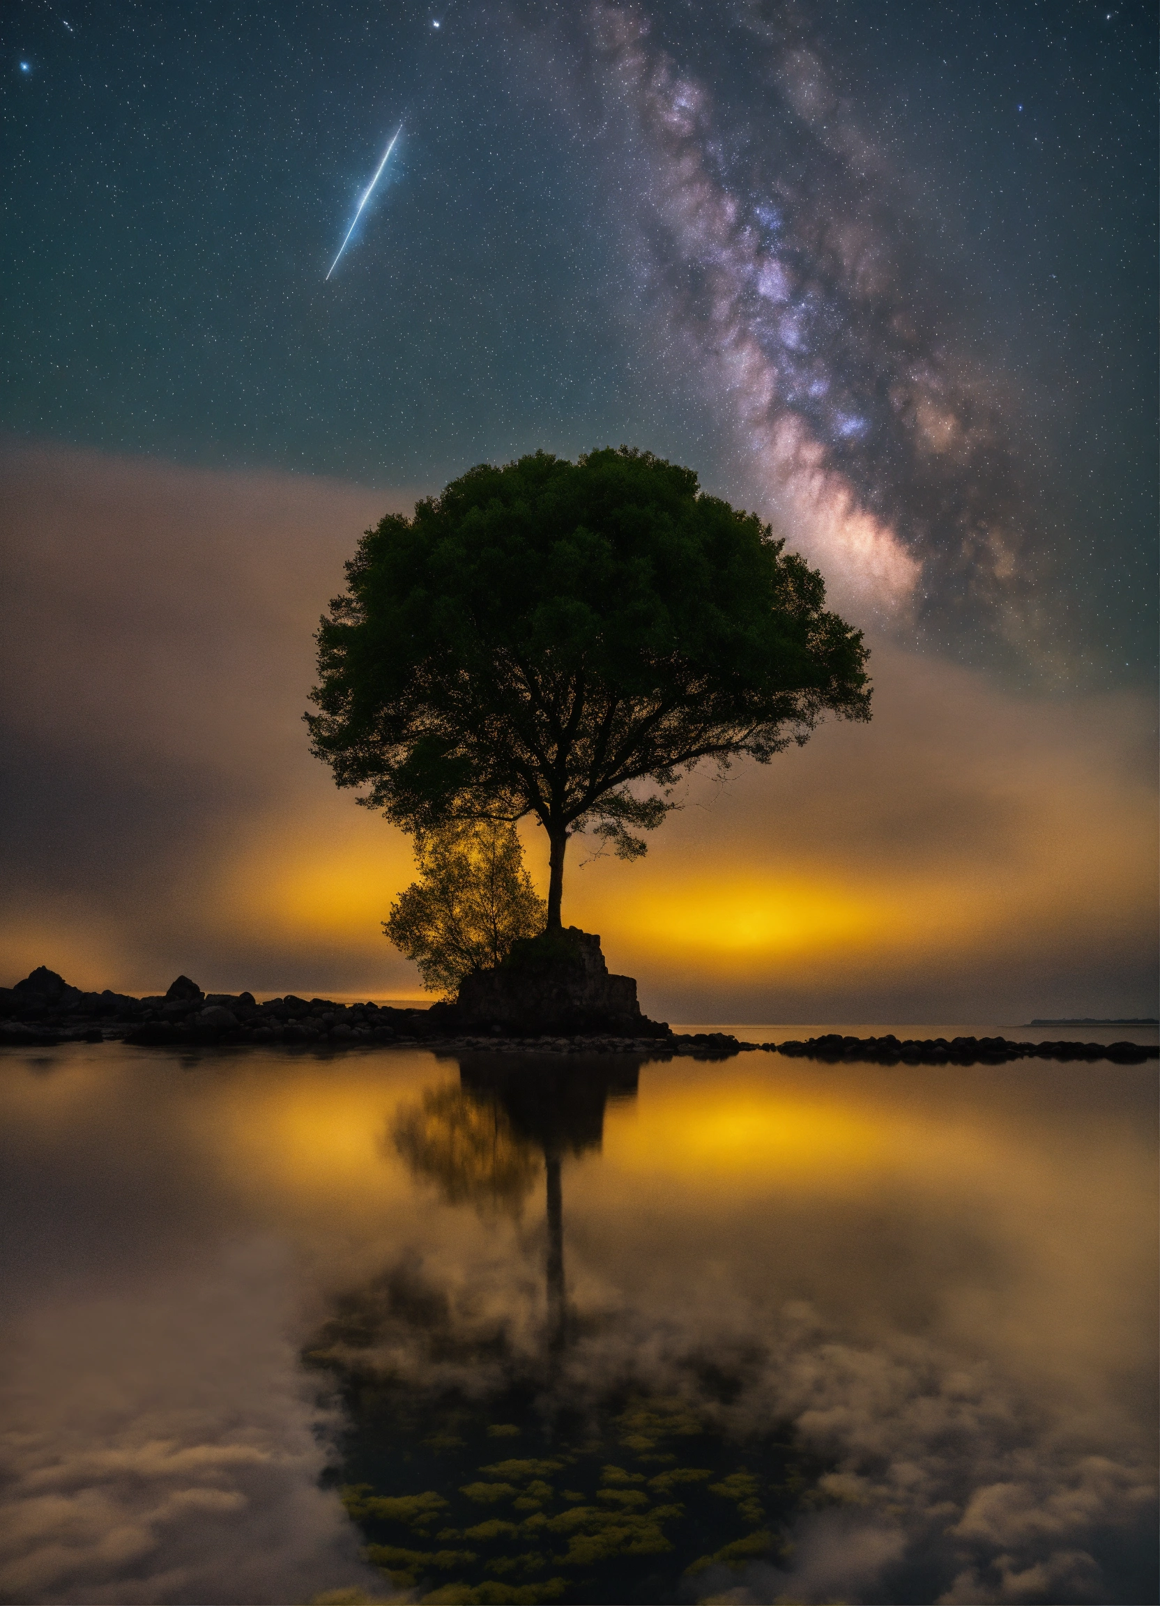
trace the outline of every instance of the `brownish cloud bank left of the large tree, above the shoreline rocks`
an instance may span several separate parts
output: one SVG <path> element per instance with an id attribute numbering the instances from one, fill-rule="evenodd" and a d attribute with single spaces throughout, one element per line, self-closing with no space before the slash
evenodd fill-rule
<path id="1" fill-rule="evenodd" d="M 0 480 L 5 968 L 415 994 L 378 927 L 406 845 L 334 793 L 300 715 L 342 562 L 418 493 L 53 446 Z M 352 948 L 328 911 L 355 880 Z"/>

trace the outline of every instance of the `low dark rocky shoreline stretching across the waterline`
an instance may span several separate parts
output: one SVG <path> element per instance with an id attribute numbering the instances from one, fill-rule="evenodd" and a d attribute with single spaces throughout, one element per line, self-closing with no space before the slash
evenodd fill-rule
<path id="1" fill-rule="evenodd" d="M 900 1039 L 829 1033 L 807 1042 L 745 1042 L 728 1033 L 675 1033 L 639 1018 L 643 1031 L 514 1036 L 493 1026 L 468 1029 L 453 1004 L 394 1009 L 389 1004 L 336 1004 L 288 994 L 259 1004 L 252 993 L 202 993 L 188 976 L 162 994 L 82 993 L 43 965 L 14 988 L 0 988 L 0 1046 L 53 1047 L 63 1042 L 129 1042 L 140 1047 L 284 1046 L 423 1047 L 450 1054 L 636 1054 L 726 1058 L 763 1049 L 789 1058 L 872 1062 L 877 1065 L 1001 1065 L 1009 1060 L 1110 1060 L 1133 1065 L 1157 1058 L 1136 1042 L 1012 1042 L 1007 1037 Z"/>

